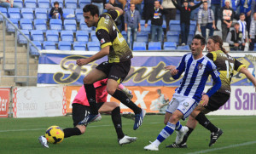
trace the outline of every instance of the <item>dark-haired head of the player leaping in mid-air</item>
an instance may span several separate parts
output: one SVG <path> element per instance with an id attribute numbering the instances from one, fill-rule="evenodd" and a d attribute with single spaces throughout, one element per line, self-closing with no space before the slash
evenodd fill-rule
<path id="1" fill-rule="evenodd" d="M 84 22 L 88 27 L 96 26 L 99 20 L 99 9 L 96 5 L 88 4 L 84 6 Z"/>

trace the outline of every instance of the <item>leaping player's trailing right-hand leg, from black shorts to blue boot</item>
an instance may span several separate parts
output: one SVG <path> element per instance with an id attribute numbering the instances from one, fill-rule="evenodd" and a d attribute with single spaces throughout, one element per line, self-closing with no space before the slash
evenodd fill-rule
<path id="1" fill-rule="evenodd" d="M 128 106 L 132 111 L 134 111 L 136 115 L 133 129 L 136 130 L 137 128 L 139 128 L 139 126 L 142 125 L 146 111 L 142 110 L 140 107 L 134 104 L 124 92 L 117 89 L 119 83 L 122 83 L 127 76 L 130 68 L 131 60 L 127 60 L 118 64 L 113 64 L 108 74 L 107 91 L 108 94 L 113 96 L 113 98 L 119 100 L 125 106 Z"/>

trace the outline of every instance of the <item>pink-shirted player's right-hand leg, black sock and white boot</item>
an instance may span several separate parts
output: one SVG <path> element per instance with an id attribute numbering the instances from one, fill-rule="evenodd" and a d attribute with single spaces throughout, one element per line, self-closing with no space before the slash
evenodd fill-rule
<path id="1" fill-rule="evenodd" d="M 137 140 L 137 137 L 130 137 L 124 134 L 122 129 L 122 119 L 120 115 L 120 107 L 116 102 L 106 102 L 99 109 L 100 112 L 111 112 L 113 126 L 118 136 L 119 145 L 129 144 Z"/>

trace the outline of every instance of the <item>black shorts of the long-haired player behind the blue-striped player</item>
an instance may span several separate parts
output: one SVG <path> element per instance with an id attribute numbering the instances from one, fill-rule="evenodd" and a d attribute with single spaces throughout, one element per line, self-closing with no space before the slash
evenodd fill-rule
<path id="1" fill-rule="evenodd" d="M 230 99 L 230 94 L 216 92 L 209 99 L 206 109 L 217 111 L 220 106 L 223 106 Z"/>

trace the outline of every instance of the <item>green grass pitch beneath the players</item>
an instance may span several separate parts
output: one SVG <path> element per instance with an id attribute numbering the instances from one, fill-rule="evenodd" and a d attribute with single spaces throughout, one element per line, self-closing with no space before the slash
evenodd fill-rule
<path id="1" fill-rule="evenodd" d="M 224 131 L 215 145 L 208 147 L 210 133 L 198 125 L 189 136 L 189 148 L 166 148 L 175 140 L 174 133 L 160 145 L 160 151 L 144 151 L 143 147 L 149 144 L 148 141 L 154 141 L 165 127 L 163 115 L 147 115 L 136 131 L 132 129 L 132 120 L 122 118 L 124 133 L 138 138 L 130 145 L 118 145 L 111 117 L 106 115 L 101 122 L 91 123 L 85 134 L 64 139 L 59 145 L 50 144 L 49 149 L 38 143 L 38 136 L 52 125 L 72 127 L 72 117 L 0 118 L 0 153 L 256 153 L 256 116 L 208 118 Z M 183 125 L 185 123 L 182 121 Z"/>

